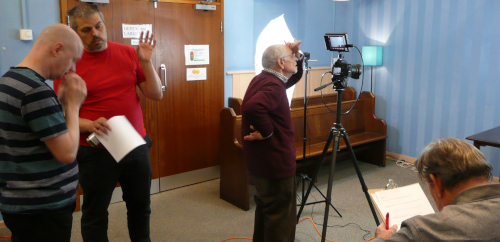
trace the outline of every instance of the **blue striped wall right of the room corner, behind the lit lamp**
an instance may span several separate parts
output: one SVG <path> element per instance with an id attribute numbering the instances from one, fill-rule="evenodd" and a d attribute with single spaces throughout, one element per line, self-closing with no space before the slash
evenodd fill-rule
<path id="1" fill-rule="evenodd" d="M 389 126 L 388 151 L 415 157 L 434 139 L 464 139 L 499 126 L 500 1 L 351 0 L 336 6 L 336 31 L 348 32 L 359 46 L 384 46 L 374 93 L 377 116 Z M 500 149 L 481 151 L 498 176 Z"/>

